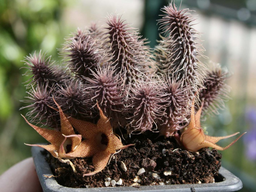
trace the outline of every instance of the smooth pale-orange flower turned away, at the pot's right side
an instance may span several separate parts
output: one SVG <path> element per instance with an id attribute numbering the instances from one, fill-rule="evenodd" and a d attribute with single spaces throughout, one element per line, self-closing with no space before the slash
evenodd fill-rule
<path id="1" fill-rule="evenodd" d="M 201 127 L 201 124 L 200 124 L 200 117 L 201 117 L 201 112 L 202 112 L 204 103 L 202 103 L 201 108 L 197 111 L 196 114 L 195 114 L 194 104 L 195 103 L 193 101 L 191 106 L 190 123 L 188 124 L 187 127 L 185 127 L 184 131 L 180 136 L 181 143 L 188 151 L 196 152 L 199 149 L 204 147 L 212 147 L 218 150 L 225 150 L 229 148 L 231 145 L 233 145 L 240 137 L 244 135 L 244 133 L 240 135 L 236 140 L 231 142 L 228 146 L 220 147 L 219 145 L 216 144 L 219 140 L 235 136 L 239 132 L 236 132 L 234 134 L 227 135 L 224 137 L 211 137 L 211 136 L 205 135 L 203 128 Z"/>

